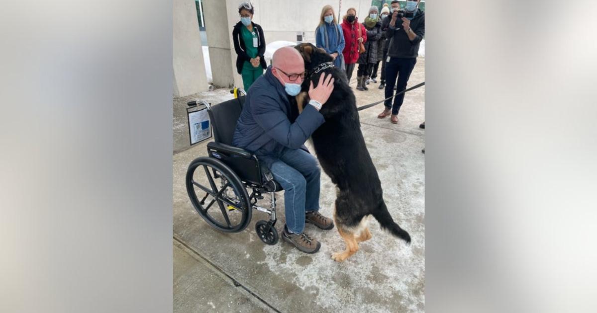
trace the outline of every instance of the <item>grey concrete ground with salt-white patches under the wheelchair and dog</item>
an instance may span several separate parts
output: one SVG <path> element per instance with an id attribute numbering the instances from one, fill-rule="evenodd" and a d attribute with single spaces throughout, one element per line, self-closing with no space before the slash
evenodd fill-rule
<path id="1" fill-rule="evenodd" d="M 419 58 L 410 85 L 423 81 L 424 58 Z M 358 106 L 384 98 L 378 83 L 369 86 L 369 91 L 355 89 Z M 424 130 L 418 125 L 424 120 L 424 87 L 408 92 L 397 125 L 389 118 L 377 119 L 382 104 L 360 113 L 386 204 L 413 242 L 407 246 L 372 221 L 373 238 L 343 263 L 330 258 L 344 249 L 336 228 L 322 231 L 307 225 L 306 232 L 322 243 L 318 253 L 307 255 L 281 240 L 275 246 L 262 243 L 254 226 L 269 217 L 264 213 L 254 211 L 244 231 L 227 234 L 211 228 L 195 212 L 184 175 L 191 160 L 207 154 L 207 141 L 187 148 L 185 139 L 176 136 L 186 134 L 188 146 L 188 99 L 231 97 L 227 92 L 219 89 L 174 101 L 174 312 L 423 312 Z M 280 231 L 284 197 L 276 194 Z M 324 215 L 332 215 L 335 198 L 334 185 L 322 174 Z M 261 206 L 266 206 L 265 200 Z"/>

